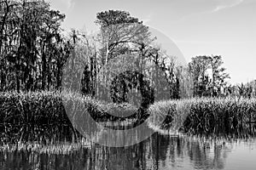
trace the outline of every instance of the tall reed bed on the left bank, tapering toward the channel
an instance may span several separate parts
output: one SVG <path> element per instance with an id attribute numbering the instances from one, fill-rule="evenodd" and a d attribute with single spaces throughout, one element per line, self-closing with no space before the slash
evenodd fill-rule
<path id="1" fill-rule="evenodd" d="M 79 140 L 82 135 L 76 130 L 76 125 L 82 130 L 96 129 L 88 116 L 97 122 L 108 122 L 114 121 L 117 116 L 108 115 L 107 111 L 136 110 L 131 105 L 107 104 L 67 91 L 0 93 L 0 145 Z M 90 114 L 84 113 L 86 111 Z M 82 126 L 77 124 L 81 122 L 79 119 L 84 121 Z"/>

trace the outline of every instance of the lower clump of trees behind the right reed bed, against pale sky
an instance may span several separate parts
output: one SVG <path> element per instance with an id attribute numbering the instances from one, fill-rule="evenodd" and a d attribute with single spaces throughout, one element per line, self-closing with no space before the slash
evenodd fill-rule
<path id="1" fill-rule="evenodd" d="M 232 96 L 256 97 L 256 81 L 230 85 L 230 75 L 221 56 L 196 56 L 189 62 L 189 73 L 193 79 L 193 95 L 197 96 Z"/>

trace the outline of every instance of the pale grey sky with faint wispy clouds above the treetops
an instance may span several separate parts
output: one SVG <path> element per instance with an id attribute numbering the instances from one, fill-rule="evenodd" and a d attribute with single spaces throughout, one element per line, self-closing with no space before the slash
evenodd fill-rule
<path id="1" fill-rule="evenodd" d="M 125 10 L 177 45 L 186 62 L 222 55 L 230 83 L 256 80 L 256 0 L 51 0 L 62 28 L 96 30 L 96 13 Z"/>

